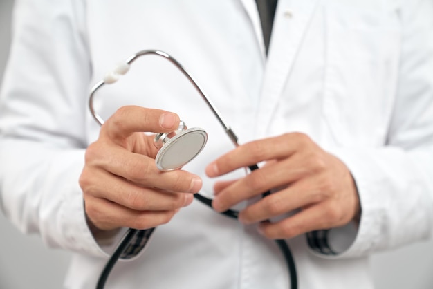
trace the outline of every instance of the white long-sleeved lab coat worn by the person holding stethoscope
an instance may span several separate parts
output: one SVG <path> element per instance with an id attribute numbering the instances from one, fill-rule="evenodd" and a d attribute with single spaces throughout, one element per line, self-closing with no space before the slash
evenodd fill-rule
<path id="1" fill-rule="evenodd" d="M 300 289 L 372 288 L 369 255 L 426 239 L 433 220 L 433 4 L 429 0 L 280 0 L 268 59 L 253 0 L 16 1 L 1 91 L 0 204 L 26 233 L 73 250 L 67 288 L 93 288 L 110 248 L 86 226 L 78 178 L 98 136 L 87 107 L 93 84 L 138 50 L 172 54 L 196 78 L 239 142 L 307 133 L 351 170 L 362 218 L 331 230 L 341 254 L 288 240 Z M 167 109 L 209 142 L 185 169 L 232 149 L 187 80 L 146 57 L 95 105 Z M 243 171 L 237 172 L 243 174 Z M 107 288 L 288 288 L 276 245 L 255 226 L 198 201 L 182 209 Z"/>

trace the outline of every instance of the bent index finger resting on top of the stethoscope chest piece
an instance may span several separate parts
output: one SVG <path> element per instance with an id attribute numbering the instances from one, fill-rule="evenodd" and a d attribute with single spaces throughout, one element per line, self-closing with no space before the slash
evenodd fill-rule
<path id="1" fill-rule="evenodd" d="M 180 119 L 175 113 L 140 106 L 122 106 L 102 126 L 111 140 L 123 140 L 135 132 L 162 133 L 178 128 Z"/>

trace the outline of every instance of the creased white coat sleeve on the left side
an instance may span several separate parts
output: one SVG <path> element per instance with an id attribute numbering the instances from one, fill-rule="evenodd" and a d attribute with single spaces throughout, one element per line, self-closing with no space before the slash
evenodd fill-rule
<path id="1" fill-rule="evenodd" d="M 50 247 L 104 256 L 78 179 L 91 75 L 84 1 L 15 1 L 0 102 L 0 205 Z"/>

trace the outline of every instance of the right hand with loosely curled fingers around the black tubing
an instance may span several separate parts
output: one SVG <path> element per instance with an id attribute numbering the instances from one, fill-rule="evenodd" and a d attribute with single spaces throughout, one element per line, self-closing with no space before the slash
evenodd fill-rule
<path id="1" fill-rule="evenodd" d="M 266 161 L 261 169 L 231 182 L 216 183 L 214 209 L 223 212 L 263 192 L 283 188 L 239 213 L 245 224 L 260 223 L 270 239 L 345 225 L 358 216 L 360 201 L 349 169 L 303 133 L 256 140 L 221 156 L 206 168 L 210 177 Z M 270 223 L 270 218 L 300 212 Z"/>

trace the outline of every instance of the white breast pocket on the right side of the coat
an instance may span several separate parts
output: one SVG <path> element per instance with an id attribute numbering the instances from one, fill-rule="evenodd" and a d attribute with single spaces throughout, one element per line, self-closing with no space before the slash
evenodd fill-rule
<path id="1" fill-rule="evenodd" d="M 351 3 L 324 7 L 324 119 L 339 145 L 379 146 L 396 90 L 398 9 L 382 1 Z"/>

